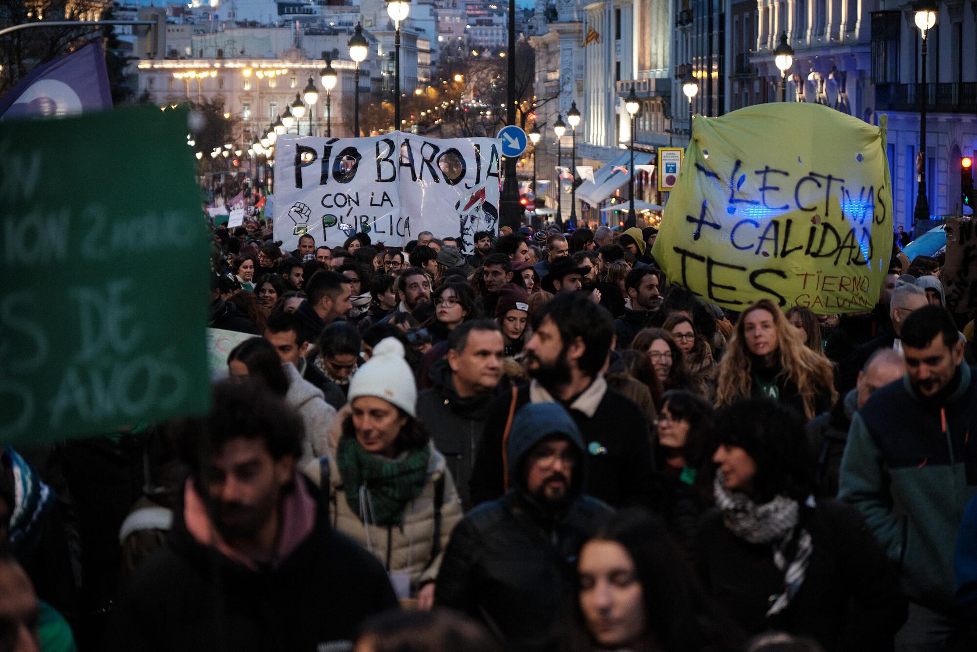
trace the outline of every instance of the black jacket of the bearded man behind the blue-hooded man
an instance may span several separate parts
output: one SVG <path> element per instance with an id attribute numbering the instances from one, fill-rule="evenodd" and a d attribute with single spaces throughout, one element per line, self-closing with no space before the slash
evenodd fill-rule
<path id="1" fill-rule="evenodd" d="M 529 402 L 530 385 L 524 385 L 516 397 L 516 410 Z M 499 396 L 488 409 L 485 436 L 472 469 L 474 504 L 495 500 L 505 493 L 502 434 L 511 403 L 512 393 L 509 392 Z M 648 421 L 638 406 L 616 389 L 607 387 L 593 417 L 572 406 L 564 407 L 573 416 L 583 438 L 589 464 L 585 493 L 614 507 L 651 507 L 656 492 L 655 465 L 648 439 Z"/>

